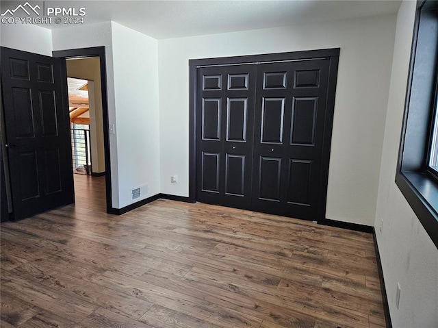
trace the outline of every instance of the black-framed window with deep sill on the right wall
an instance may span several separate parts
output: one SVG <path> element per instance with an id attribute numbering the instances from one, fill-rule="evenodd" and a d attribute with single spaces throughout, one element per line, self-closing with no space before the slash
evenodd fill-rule
<path id="1" fill-rule="evenodd" d="M 438 248 L 438 1 L 419 1 L 396 184 Z"/>

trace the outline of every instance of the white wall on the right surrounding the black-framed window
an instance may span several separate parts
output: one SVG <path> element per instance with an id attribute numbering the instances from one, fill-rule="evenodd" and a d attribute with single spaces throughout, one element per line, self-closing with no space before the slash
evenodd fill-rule
<path id="1" fill-rule="evenodd" d="M 438 327 L 438 250 L 394 182 L 414 16 L 415 1 L 404 1 L 397 18 L 375 222 L 391 320 L 397 328 Z"/>

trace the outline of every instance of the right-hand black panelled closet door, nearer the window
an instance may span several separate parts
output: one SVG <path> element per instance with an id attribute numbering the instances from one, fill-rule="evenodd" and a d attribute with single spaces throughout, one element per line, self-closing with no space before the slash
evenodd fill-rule
<path id="1" fill-rule="evenodd" d="M 252 209 L 317 219 L 329 59 L 257 68 Z"/>

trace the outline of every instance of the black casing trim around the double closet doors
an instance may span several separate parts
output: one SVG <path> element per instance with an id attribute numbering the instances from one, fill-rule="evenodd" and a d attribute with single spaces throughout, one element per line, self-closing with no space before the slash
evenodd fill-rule
<path id="1" fill-rule="evenodd" d="M 206 58 L 190 60 L 190 149 L 189 149 L 189 197 L 188 201 L 196 202 L 196 184 L 197 184 L 197 144 L 196 139 L 198 135 L 197 120 L 198 114 L 201 108 L 197 108 L 197 86 L 198 86 L 198 67 L 200 66 L 225 66 L 236 64 L 249 64 L 249 63 L 264 63 L 264 62 L 285 62 L 295 60 L 311 60 L 317 58 L 328 58 L 330 60 L 329 65 L 329 86 L 327 90 L 327 103 L 326 103 L 326 117 L 324 121 L 324 136 L 322 142 L 322 154 L 321 154 L 321 170 L 320 170 L 320 186 L 318 194 L 318 210 L 317 220 L 319 223 L 323 223 L 326 214 L 326 197 L 327 197 L 327 184 L 329 179 L 329 162 L 331 151 L 331 135 L 333 127 L 333 112 L 335 108 L 335 92 L 337 83 L 337 68 L 339 63 L 339 48 L 322 49 L 322 50 L 309 50 L 309 51 L 294 51 L 286 53 L 268 53 L 261 55 L 244 55 L 236 57 L 226 58 Z"/>

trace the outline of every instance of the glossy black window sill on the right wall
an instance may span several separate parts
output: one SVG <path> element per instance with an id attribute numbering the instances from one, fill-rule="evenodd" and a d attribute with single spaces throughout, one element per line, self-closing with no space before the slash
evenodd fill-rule
<path id="1" fill-rule="evenodd" d="M 424 173 L 402 171 L 396 184 L 438 248 L 438 184 Z"/>

